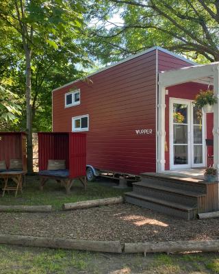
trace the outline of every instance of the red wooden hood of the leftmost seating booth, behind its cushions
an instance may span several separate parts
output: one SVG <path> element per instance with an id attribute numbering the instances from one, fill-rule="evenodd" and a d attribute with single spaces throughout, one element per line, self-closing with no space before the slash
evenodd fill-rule
<path id="1" fill-rule="evenodd" d="M 10 160 L 22 160 L 23 171 L 27 170 L 25 132 L 0 132 L 0 160 L 5 160 L 9 168 Z"/>

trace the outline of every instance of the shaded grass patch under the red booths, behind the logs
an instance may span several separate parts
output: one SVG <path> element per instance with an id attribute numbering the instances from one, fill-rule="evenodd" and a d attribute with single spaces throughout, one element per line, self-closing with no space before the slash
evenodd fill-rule
<path id="1" fill-rule="evenodd" d="M 23 194 L 19 192 L 15 198 L 14 191 L 10 191 L 9 194 L 5 192 L 5 196 L 0 199 L 0 204 L 5 206 L 51 205 L 55 210 L 60 210 L 63 203 L 116 197 L 127 191 L 127 189 L 112 188 L 110 182 L 106 184 L 104 179 L 88 182 L 87 190 L 83 189 L 80 182 L 75 182 L 70 195 L 66 195 L 64 186 L 60 186 L 52 180 L 46 183 L 42 191 L 39 190 L 39 186 L 40 182 L 37 176 L 27 177 L 27 186 L 23 187 Z"/>

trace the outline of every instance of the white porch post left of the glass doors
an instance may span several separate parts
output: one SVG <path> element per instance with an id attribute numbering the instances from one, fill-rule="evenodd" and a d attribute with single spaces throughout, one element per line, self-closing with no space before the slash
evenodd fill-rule
<path id="1" fill-rule="evenodd" d="M 165 170 L 165 87 L 159 83 L 157 129 L 157 171 Z"/>

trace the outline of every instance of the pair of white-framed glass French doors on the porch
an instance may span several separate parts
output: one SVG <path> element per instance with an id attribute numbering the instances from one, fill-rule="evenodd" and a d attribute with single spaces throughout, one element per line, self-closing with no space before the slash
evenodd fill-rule
<path id="1" fill-rule="evenodd" d="M 170 169 L 205 166 L 204 125 L 192 101 L 170 99 Z"/>

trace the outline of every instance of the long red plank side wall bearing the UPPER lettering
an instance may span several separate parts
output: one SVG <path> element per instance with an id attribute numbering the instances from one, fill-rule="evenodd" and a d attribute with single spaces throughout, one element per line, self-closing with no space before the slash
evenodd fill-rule
<path id="1" fill-rule="evenodd" d="M 71 132 L 72 117 L 89 114 L 87 164 L 139 174 L 156 170 L 156 51 L 53 92 L 53 131 Z M 80 88 L 81 104 L 64 108 L 64 94 Z M 153 129 L 153 134 L 136 134 Z"/>

